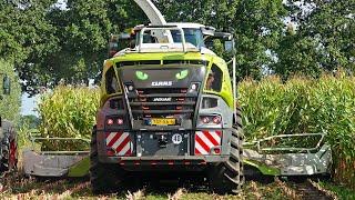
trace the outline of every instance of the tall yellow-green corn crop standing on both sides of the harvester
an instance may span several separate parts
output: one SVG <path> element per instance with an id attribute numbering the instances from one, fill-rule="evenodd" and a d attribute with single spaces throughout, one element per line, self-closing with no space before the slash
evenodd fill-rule
<path id="1" fill-rule="evenodd" d="M 355 77 L 339 72 L 315 80 L 295 77 L 285 83 L 277 77 L 246 79 L 239 86 L 239 102 L 247 140 L 326 132 L 333 150 L 334 180 L 355 188 Z M 42 136 L 89 139 L 98 103 L 95 89 L 58 87 L 39 104 Z M 44 144 L 47 149 L 58 146 Z M 73 148 L 70 143 L 62 146 Z"/>

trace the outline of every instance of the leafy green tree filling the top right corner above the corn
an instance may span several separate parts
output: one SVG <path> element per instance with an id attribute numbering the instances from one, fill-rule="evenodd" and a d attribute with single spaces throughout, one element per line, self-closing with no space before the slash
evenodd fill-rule
<path id="1" fill-rule="evenodd" d="M 355 70 L 355 0 L 321 1 L 302 27 L 302 34 L 318 40 L 317 62 L 327 70 L 338 67 Z"/>

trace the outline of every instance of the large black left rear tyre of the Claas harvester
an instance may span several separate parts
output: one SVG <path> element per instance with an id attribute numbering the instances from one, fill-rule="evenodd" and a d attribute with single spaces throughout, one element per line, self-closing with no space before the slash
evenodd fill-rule
<path id="1" fill-rule="evenodd" d="M 90 183 L 95 194 L 113 192 L 122 182 L 122 169 L 118 164 L 102 163 L 99 161 L 97 129 L 92 130 L 90 143 Z"/>

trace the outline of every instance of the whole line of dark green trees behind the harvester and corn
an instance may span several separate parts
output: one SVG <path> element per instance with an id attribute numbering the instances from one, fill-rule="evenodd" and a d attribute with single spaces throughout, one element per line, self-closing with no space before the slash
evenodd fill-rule
<path id="1" fill-rule="evenodd" d="M 166 21 L 233 32 L 240 78 L 355 70 L 355 0 L 153 2 Z M 100 76 L 109 36 L 148 22 L 132 0 L 0 1 L 0 58 L 31 94 L 62 79 L 88 83 Z"/>

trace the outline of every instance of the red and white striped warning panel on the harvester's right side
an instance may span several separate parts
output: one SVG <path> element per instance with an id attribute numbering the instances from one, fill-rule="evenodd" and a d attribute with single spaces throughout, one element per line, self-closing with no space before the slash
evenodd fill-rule
<path id="1" fill-rule="evenodd" d="M 221 146 L 222 131 L 196 131 L 195 154 L 210 154 L 212 148 Z"/>

